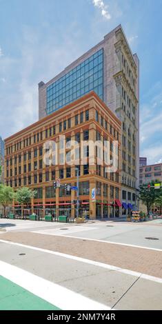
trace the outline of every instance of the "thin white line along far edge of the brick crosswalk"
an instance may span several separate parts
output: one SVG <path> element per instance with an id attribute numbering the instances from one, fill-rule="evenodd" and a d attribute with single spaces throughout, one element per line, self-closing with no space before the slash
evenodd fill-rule
<path id="1" fill-rule="evenodd" d="M 41 233 L 42 231 L 32 231 L 32 233 L 37 233 L 37 234 L 45 234 Z M 43 231 L 44 232 L 44 231 Z M 50 235 L 50 234 L 48 234 Z M 119 242 L 112 242 L 112 241 L 104 241 L 104 240 L 99 240 L 99 239 L 89 239 L 87 237 L 81 237 L 81 236 L 72 236 L 72 235 L 64 235 L 64 234 L 54 234 L 55 236 L 62 236 L 62 237 L 70 237 L 70 239 L 79 239 L 79 240 L 85 240 L 85 241 L 95 241 L 95 242 L 101 242 L 101 243 L 110 243 L 110 244 L 116 244 L 116 245 L 123 245 L 123 246 L 130 246 L 130 247 L 139 247 L 140 249 L 145 249 L 145 250 L 153 250 L 153 251 L 159 251 L 162 252 L 161 249 L 156 249 L 155 247 L 146 247 L 143 245 L 133 245 L 133 244 L 128 244 L 128 243 L 119 243 Z"/>

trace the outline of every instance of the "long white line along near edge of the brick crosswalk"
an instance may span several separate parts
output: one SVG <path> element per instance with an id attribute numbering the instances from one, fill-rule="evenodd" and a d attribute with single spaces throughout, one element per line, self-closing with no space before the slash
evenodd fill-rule
<path id="1" fill-rule="evenodd" d="M 49 253 L 49 254 L 54 254 L 56 256 L 61 256 L 63 258 L 66 259 L 71 259 L 74 261 L 79 261 L 79 262 L 83 262 L 83 263 L 87 263 L 90 265 L 96 265 L 97 267 L 103 267 L 105 269 L 111 270 L 111 271 L 117 271 L 117 272 L 121 272 L 123 274 L 129 274 L 131 276 L 141 276 L 141 278 L 143 279 L 147 279 L 150 281 L 155 281 L 156 283 L 162 283 L 162 279 L 155 277 L 155 276 L 149 276 L 148 274 L 142 274 L 141 272 L 135 272 L 132 270 L 128 270 L 128 269 L 123 269 L 121 267 L 115 267 L 114 265 L 108 265 L 107 263 L 101 263 L 98 261 L 93 261 L 93 260 L 89 260 L 89 259 L 83 259 L 79 256 L 73 256 L 70 254 L 65 254 L 65 253 L 61 253 L 61 252 L 56 252 L 56 251 L 51 251 L 51 250 L 45 250 L 45 249 L 41 249 L 41 247 L 34 247 L 31 245 L 25 245 L 25 244 L 21 244 L 21 243 L 14 243 L 14 242 L 10 242 L 10 241 L 4 241 L 4 240 L 0 240 L 1 243 L 7 243 L 10 245 L 17 245 L 17 246 L 21 246 L 21 247 L 26 247 L 30 250 L 36 250 L 39 252 L 45 252 L 45 253 Z"/>

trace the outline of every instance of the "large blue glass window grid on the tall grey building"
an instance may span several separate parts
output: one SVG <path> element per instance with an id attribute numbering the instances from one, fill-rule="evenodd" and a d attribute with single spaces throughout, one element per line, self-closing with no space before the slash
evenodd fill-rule
<path id="1" fill-rule="evenodd" d="M 103 49 L 47 88 L 47 114 L 94 90 L 103 100 Z"/>

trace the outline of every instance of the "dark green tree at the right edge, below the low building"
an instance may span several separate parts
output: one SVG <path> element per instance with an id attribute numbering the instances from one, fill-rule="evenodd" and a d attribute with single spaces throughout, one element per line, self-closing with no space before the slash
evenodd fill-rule
<path id="1" fill-rule="evenodd" d="M 144 205 L 146 205 L 148 214 L 150 213 L 151 207 L 156 199 L 158 199 L 159 196 L 162 196 L 161 189 L 154 189 L 154 183 L 158 183 L 158 181 L 151 181 L 150 183 L 143 185 L 139 190 L 140 199 Z M 148 185 L 150 185 L 150 188 L 148 188 Z"/>

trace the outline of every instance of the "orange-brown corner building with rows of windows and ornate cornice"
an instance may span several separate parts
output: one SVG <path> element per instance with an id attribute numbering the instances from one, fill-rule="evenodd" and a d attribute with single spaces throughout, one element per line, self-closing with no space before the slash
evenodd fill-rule
<path id="1" fill-rule="evenodd" d="M 68 165 L 63 161 L 63 145 L 59 135 L 65 135 L 66 150 L 69 152 L 68 161 L 77 165 Z M 77 154 L 81 150 L 82 141 L 110 141 L 110 156 L 112 155 L 112 141 L 118 141 L 118 170 L 115 173 L 105 172 L 105 164 L 95 162 L 90 164 L 89 152 L 91 148 L 83 150 L 83 158 L 88 161 L 81 164 Z M 75 140 L 74 152 L 70 154 L 70 141 Z M 59 144 L 59 165 L 46 166 L 43 159 L 43 143 L 56 141 Z M 28 128 L 21 130 L 5 140 L 5 181 L 14 189 L 21 186 L 37 189 L 37 196 L 32 200 L 32 209 L 45 207 L 72 208 L 77 193 L 65 188 L 54 190 L 54 181 L 61 179 L 61 185 L 77 185 L 76 167 L 79 168 L 79 199 L 83 202 L 90 218 L 121 216 L 121 183 L 119 170 L 121 169 L 121 121 L 99 99 L 95 92 L 66 105 L 52 114 L 40 119 Z M 97 150 L 95 150 L 95 161 Z M 102 151 L 103 152 L 103 151 Z M 92 189 L 96 189 L 96 196 L 92 201 Z"/>

